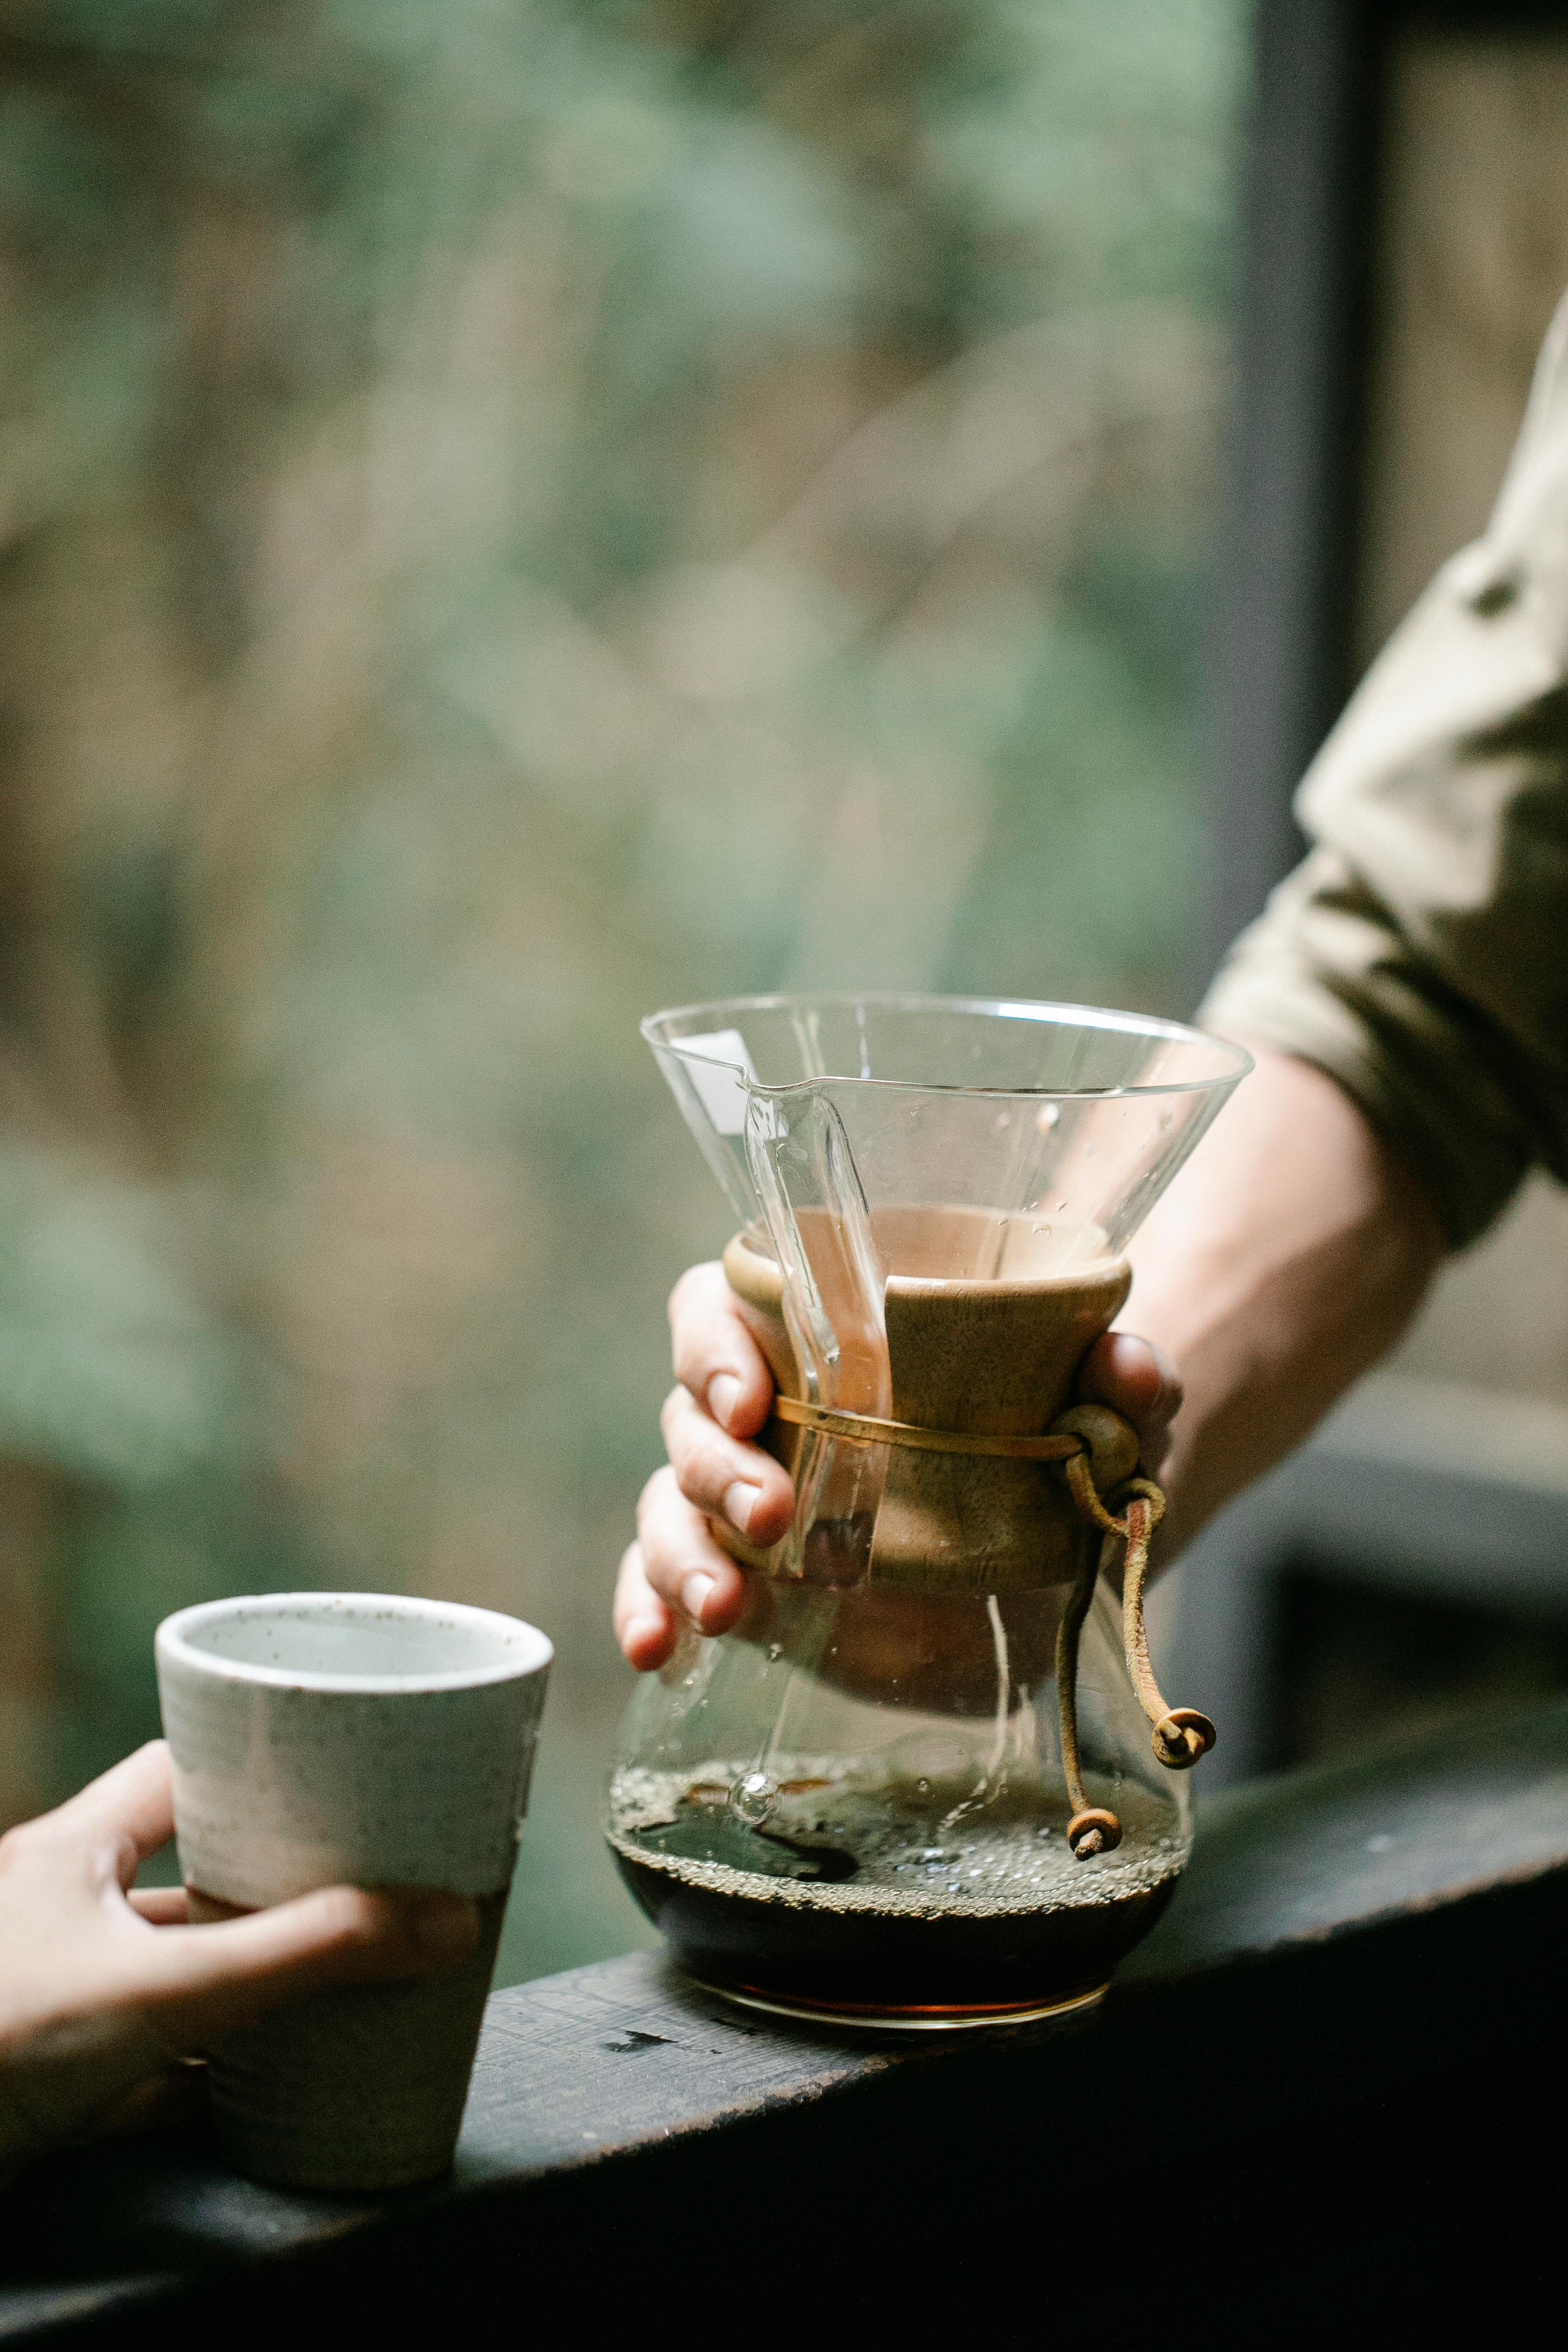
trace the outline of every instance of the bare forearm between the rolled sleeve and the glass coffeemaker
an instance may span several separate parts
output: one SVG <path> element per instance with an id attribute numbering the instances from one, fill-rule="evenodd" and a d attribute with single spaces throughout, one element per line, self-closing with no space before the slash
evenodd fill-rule
<path id="1" fill-rule="evenodd" d="M 1321 1070 L 1267 1049 L 1133 1247 L 1128 1329 L 1175 1359 L 1168 1536 L 1291 1451 L 1399 1338 L 1436 1216 Z"/>

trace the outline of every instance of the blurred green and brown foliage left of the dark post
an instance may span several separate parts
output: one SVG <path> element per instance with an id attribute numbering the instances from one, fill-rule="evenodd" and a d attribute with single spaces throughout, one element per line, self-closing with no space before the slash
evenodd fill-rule
<path id="1" fill-rule="evenodd" d="M 724 1235 L 637 1016 L 1180 1002 L 1244 12 L 7 24 L 7 1802 L 179 1602 L 520 1609 L 564 1966 Z"/>

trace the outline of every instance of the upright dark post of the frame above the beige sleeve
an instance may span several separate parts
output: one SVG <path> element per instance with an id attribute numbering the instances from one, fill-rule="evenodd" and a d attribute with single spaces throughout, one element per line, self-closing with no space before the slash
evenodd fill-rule
<path id="1" fill-rule="evenodd" d="M 1194 995 L 1295 866 L 1291 795 L 1352 675 L 1380 132 L 1396 35 L 1556 31 L 1561 0 L 1255 0 L 1237 393 L 1208 668 Z"/>

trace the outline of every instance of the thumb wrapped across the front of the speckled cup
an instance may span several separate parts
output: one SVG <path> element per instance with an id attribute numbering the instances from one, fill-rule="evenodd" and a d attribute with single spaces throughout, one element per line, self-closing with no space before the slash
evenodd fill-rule
<path id="1" fill-rule="evenodd" d="M 451 1969 L 475 1950 L 477 1905 L 400 1886 L 322 1886 L 216 1926 L 148 1929 L 139 1997 L 148 2023 L 188 2046 L 324 1985 Z"/>

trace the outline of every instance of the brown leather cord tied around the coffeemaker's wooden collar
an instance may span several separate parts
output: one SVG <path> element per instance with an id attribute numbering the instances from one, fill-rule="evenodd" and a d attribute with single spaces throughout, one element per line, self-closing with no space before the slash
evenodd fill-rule
<path id="1" fill-rule="evenodd" d="M 1168 1708 L 1154 1682 L 1150 1635 L 1143 1621 L 1143 1588 L 1150 1576 L 1150 1538 L 1166 1512 L 1166 1498 L 1154 1479 L 1128 1475 L 1138 1468 L 1138 1437 L 1121 1414 L 1112 1414 L 1105 1404 L 1077 1404 L 1044 1435 L 994 1435 L 987 1430 L 929 1430 L 914 1421 L 879 1421 L 875 1414 L 806 1404 L 802 1397 L 773 1397 L 773 1418 L 858 1446 L 914 1446 L 922 1454 L 987 1454 L 1060 1463 L 1079 1512 L 1124 1548 L 1121 1646 L 1138 1705 L 1150 1719 L 1154 1755 L 1168 1771 L 1190 1771 L 1199 1757 L 1208 1755 L 1215 1743 L 1211 1719 L 1197 1708 Z M 1119 1515 L 1107 1508 L 1100 1489 L 1126 1498 Z M 1079 1639 L 1103 1559 L 1105 1545 L 1100 1557 L 1086 1562 L 1074 1578 L 1056 1632 L 1063 1778 L 1072 1802 L 1067 1844 L 1081 1863 L 1121 1844 L 1117 1816 L 1105 1806 L 1088 1804 L 1079 1762 Z"/>

